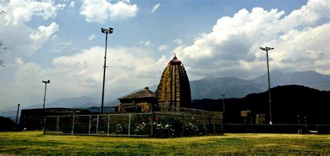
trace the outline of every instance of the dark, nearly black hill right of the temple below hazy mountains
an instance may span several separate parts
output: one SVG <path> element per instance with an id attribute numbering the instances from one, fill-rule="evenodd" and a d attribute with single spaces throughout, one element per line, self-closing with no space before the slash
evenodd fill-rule
<path id="1" fill-rule="evenodd" d="M 277 86 L 271 89 L 273 123 L 294 123 L 299 120 L 308 124 L 330 124 L 330 91 L 318 91 L 298 85 Z M 194 109 L 223 111 L 222 99 L 193 100 Z M 226 98 L 226 123 L 243 123 L 241 111 L 250 110 L 253 121 L 256 114 L 269 114 L 268 92 L 252 93 L 244 98 Z M 248 118 L 250 121 L 251 118 Z"/>

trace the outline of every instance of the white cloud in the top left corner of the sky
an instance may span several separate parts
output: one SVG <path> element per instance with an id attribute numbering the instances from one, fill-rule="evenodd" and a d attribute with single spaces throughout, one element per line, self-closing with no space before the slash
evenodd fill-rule
<path id="1" fill-rule="evenodd" d="M 26 57 L 33 55 L 59 30 L 58 24 L 52 22 L 49 26 L 41 25 L 33 29 L 26 25 L 32 17 L 49 20 L 56 17 L 58 10 L 65 4 L 49 1 L 9 1 L 0 3 L 1 10 L 6 13 L 0 15 L 0 36 L 6 42 L 8 49 L 3 52 L 3 60 L 8 67 L 19 65 Z M 9 48 L 10 47 L 10 48 Z"/>

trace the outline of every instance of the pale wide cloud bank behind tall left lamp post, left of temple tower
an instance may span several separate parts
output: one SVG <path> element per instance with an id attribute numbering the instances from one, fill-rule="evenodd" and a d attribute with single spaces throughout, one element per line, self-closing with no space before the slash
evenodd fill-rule
<path id="1" fill-rule="evenodd" d="M 106 72 L 106 100 L 159 82 L 167 59 L 162 56 L 152 59 L 146 49 L 109 48 Z M 52 60 L 52 68 L 43 68 L 37 63 L 17 60 L 13 84 L 3 84 L 3 96 L 15 97 L 17 102 L 38 103 L 44 85 L 41 80 L 50 79 L 47 86 L 47 101 L 72 98 L 81 95 L 100 95 L 103 79 L 104 47 L 84 49 L 73 56 L 60 56 Z M 42 92 L 41 92 L 42 93 Z M 95 98 L 99 98 L 98 96 Z M 6 98 L 5 100 L 8 100 Z M 13 101 L 13 100 L 12 100 Z"/>

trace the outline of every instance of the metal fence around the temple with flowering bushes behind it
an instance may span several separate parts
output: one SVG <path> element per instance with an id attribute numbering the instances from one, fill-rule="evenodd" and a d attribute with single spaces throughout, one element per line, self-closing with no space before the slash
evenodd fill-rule
<path id="1" fill-rule="evenodd" d="M 44 134 L 176 137 L 221 134 L 219 116 L 179 112 L 46 116 Z"/>

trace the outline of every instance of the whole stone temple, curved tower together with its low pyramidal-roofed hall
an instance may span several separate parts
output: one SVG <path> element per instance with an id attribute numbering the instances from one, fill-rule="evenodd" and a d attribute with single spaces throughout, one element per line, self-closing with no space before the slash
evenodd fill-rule
<path id="1" fill-rule="evenodd" d="M 152 105 L 166 108 L 190 108 L 189 79 L 182 62 L 175 56 L 164 69 L 156 93 L 146 87 L 143 91 L 119 98 L 118 112 L 149 112 Z"/>

